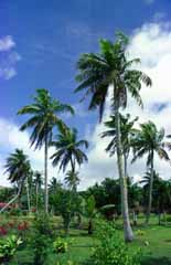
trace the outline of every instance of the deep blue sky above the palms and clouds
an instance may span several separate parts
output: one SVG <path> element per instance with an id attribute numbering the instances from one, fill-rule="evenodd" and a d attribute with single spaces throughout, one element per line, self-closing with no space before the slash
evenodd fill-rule
<path id="1" fill-rule="evenodd" d="M 73 93 L 79 54 L 98 51 L 98 39 L 114 39 L 116 30 L 132 35 L 148 23 L 167 24 L 169 10 L 170 0 L 1 0 L 0 118 L 20 125 L 17 110 L 44 87 L 76 107 L 76 117 L 65 117 L 66 123 L 82 136 L 94 134 L 97 115 L 86 114 L 86 104 L 78 105 L 81 95 Z M 0 161 L 8 151 L 11 147 L 3 145 Z"/>

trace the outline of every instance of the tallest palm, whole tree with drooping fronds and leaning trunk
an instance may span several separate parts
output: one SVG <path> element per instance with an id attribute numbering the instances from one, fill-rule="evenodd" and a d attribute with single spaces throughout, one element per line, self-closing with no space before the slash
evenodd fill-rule
<path id="1" fill-rule="evenodd" d="M 119 110 L 120 108 L 127 107 L 128 93 L 139 105 L 142 105 L 139 94 L 141 83 L 143 82 L 147 86 L 150 86 L 151 80 L 141 71 L 133 70 L 133 64 L 140 62 L 140 60 L 135 59 L 129 61 L 126 56 L 128 39 L 121 33 L 118 33 L 117 36 L 118 39 L 115 43 L 108 40 L 100 40 L 100 53 L 87 53 L 81 56 L 77 63 L 79 73 L 76 76 L 79 86 L 75 92 L 86 89 L 83 99 L 90 96 L 88 109 L 94 110 L 98 108 L 99 120 L 101 120 L 106 98 L 109 91 L 111 91 L 110 106 L 116 119 L 116 147 L 120 178 L 125 240 L 129 242 L 133 239 L 133 234 L 129 221 Z"/>

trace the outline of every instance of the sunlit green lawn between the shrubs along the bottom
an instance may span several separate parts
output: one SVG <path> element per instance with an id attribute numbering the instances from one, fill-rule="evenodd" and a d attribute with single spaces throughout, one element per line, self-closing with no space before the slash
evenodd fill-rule
<path id="1" fill-rule="evenodd" d="M 56 223 L 56 220 L 53 220 L 53 222 Z M 171 265 L 171 227 L 159 226 L 157 223 L 158 220 L 152 218 L 150 225 L 147 227 L 143 225 L 143 220 L 139 220 L 138 227 L 135 229 L 135 233 L 137 234 L 136 240 L 129 244 L 130 251 L 141 246 L 145 254 L 145 265 Z M 117 225 L 120 229 L 119 222 Z M 141 233 L 141 231 L 143 232 Z M 119 233 L 122 235 L 121 229 Z M 58 265 L 57 261 L 61 261 L 61 264 L 64 265 L 65 258 L 73 261 L 72 265 L 75 265 L 75 263 L 88 264 L 87 261 L 90 256 L 92 247 L 96 243 L 96 239 L 88 236 L 86 230 L 72 229 L 68 240 L 72 242 L 68 253 L 57 257 L 51 254 L 47 264 Z M 18 252 L 15 261 L 10 264 L 33 264 L 32 257 L 32 252 L 24 248 Z"/>

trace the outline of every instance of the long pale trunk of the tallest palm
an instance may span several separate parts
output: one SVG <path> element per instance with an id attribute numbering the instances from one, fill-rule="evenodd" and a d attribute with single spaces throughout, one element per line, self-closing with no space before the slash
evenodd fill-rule
<path id="1" fill-rule="evenodd" d="M 117 163 L 118 163 L 118 172 L 119 172 L 119 179 L 120 179 L 124 233 L 125 233 L 125 241 L 131 242 L 133 240 L 133 232 L 130 226 L 130 220 L 129 220 L 127 178 L 125 177 L 125 172 L 124 172 L 124 158 L 122 158 L 122 148 L 121 148 L 121 139 L 120 139 L 120 116 L 119 116 L 119 106 L 117 102 L 115 106 L 115 117 L 116 117 Z"/>

